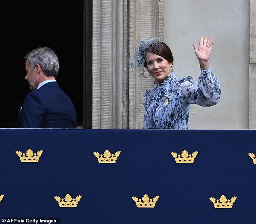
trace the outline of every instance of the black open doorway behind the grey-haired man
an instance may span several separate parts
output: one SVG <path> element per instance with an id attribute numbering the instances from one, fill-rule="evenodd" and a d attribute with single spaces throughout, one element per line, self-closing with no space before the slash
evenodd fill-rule
<path id="1" fill-rule="evenodd" d="M 55 50 L 60 64 L 57 76 L 59 86 L 71 98 L 76 108 L 77 126 L 86 126 L 84 122 L 86 92 L 83 90 L 86 81 L 86 68 L 83 64 L 84 40 L 86 40 L 84 38 L 85 5 L 84 0 L 1 1 L 0 128 L 17 127 L 19 109 L 25 95 L 30 91 L 24 79 L 23 57 L 39 46 L 47 46 Z M 87 10 L 92 15 L 92 6 L 90 7 L 91 9 Z"/>

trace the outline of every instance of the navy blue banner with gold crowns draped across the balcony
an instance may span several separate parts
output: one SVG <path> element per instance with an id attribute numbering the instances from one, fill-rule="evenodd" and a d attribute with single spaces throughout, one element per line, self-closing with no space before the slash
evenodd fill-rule
<path id="1" fill-rule="evenodd" d="M 254 223 L 254 130 L 0 130 L 0 218 L 57 217 L 61 224 Z M 21 162 L 31 149 L 38 162 Z M 120 151 L 116 163 L 94 153 Z M 198 151 L 178 164 L 172 152 Z M 155 207 L 132 197 L 159 196 Z M 237 197 L 216 209 L 210 197 Z M 81 196 L 81 197 L 79 197 Z M 60 207 L 61 199 L 77 207 Z M 58 199 L 60 205 L 58 203 Z M 65 202 L 65 200 L 64 200 Z M 74 205 L 75 206 L 75 205 Z"/>

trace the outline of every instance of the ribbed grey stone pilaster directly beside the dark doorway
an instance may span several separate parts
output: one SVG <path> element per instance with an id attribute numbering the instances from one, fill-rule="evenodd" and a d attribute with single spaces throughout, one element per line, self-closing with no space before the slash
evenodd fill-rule
<path id="1" fill-rule="evenodd" d="M 126 0 L 93 0 L 92 128 L 126 128 Z"/>

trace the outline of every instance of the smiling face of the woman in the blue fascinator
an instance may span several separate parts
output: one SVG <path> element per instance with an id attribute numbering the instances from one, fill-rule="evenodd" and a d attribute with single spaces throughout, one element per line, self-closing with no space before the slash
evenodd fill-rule
<path id="1" fill-rule="evenodd" d="M 170 67 L 172 67 L 172 63 L 169 63 L 163 57 L 151 52 L 147 53 L 146 60 L 147 70 L 155 79 L 155 82 L 158 84 L 164 82 L 166 77 L 171 73 Z"/>

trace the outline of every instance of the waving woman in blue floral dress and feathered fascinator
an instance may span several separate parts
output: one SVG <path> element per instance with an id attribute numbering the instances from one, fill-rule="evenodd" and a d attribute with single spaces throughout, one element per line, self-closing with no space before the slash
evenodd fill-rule
<path id="1" fill-rule="evenodd" d="M 220 99 L 220 84 L 210 69 L 209 57 L 214 42 L 211 38 L 201 36 L 199 47 L 193 44 L 195 55 L 199 60 L 201 73 L 198 84 L 192 77 L 183 79 L 175 77 L 172 71 L 173 57 L 168 45 L 160 38 L 152 38 L 147 43 L 142 39 L 131 63 L 140 69 L 144 76 L 144 68 L 155 79 L 156 87 L 146 90 L 145 116 L 143 128 L 155 129 L 187 129 L 191 103 L 210 107 Z"/>

